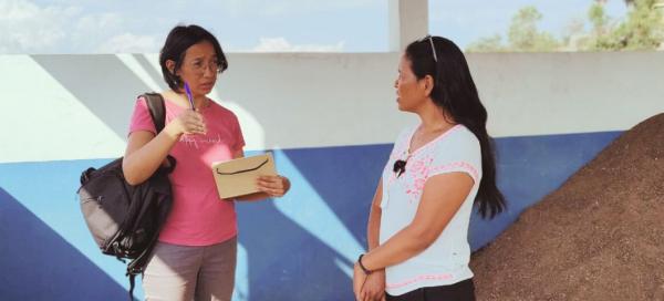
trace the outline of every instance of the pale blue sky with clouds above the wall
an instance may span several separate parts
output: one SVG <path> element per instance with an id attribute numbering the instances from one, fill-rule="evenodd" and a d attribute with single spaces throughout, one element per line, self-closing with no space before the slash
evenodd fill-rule
<path id="1" fill-rule="evenodd" d="M 505 37 L 535 6 L 541 29 L 561 37 L 593 0 L 429 0 L 429 32 L 459 46 Z M 158 52 L 177 23 L 210 30 L 229 52 L 384 52 L 388 0 L 0 0 L 0 54 Z M 622 0 L 608 0 L 623 18 Z"/>

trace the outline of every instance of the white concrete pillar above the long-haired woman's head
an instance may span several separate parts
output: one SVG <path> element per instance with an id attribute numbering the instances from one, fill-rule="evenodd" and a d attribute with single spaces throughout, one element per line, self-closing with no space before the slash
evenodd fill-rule
<path id="1" fill-rule="evenodd" d="M 428 33 L 428 0 L 390 1 L 390 51 L 401 52 Z"/>

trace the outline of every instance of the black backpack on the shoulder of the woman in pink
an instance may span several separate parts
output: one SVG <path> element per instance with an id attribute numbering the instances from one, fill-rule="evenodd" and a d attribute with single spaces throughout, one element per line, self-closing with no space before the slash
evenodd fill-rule
<path id="1" fill-rule="evenodd" d="M 166 110 L 157 93 L 143 95 L 158 132 L 164 129 Z M 168 156 L 169 167 L 159 167 L 147 180 L 129 185 L 122 172 L 122 158 L 81 175 L 77 194 L 81 211 L 95 242 L 103 253 L 115 256 L 127 264 L 129 298 L 134 299 L 134 280 L 147 264 L 154 246 L 166 221 L 173 197 L 168 174 L 175 168 L 175 158 Z"/>

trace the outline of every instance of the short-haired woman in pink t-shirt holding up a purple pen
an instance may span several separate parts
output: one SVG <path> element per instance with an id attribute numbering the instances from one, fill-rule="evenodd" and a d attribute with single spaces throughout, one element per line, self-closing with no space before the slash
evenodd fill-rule
<path id="1" fill-rule="evenodd" d="M 156 133 L 144 98 L 136 102 L 123 172 L 129 184 L 146 180 L 167 155 L 173 209 L 143 274 L 146 300 L 230 300 L 235 281 L 237 222 L 234 200 L 220 199 L 212 162 L 243 156 L 245 139 L 236 115 L 206 95 L 228 68 L 217 39 L 198 25 L 175 27 L 159 55 L 166 126 Z M 193 94 L 193 105 L 185 93 Z M 240 197 L 281 197 L 290 188 L 282 176 L 263 176 L 261 193 Z"/>

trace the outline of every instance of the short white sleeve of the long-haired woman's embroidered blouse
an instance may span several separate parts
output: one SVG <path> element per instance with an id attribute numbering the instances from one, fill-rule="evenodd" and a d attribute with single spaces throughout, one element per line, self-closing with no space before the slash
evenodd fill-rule
<path id="1" fill-rule="evenodd" d="M 479 141 L 469 131 L 456 133 L 445 145 L 445 149 L 436 152 L 428 176 L 466 173 L 475 185 L 481 179 L 481 149 Z"/>

